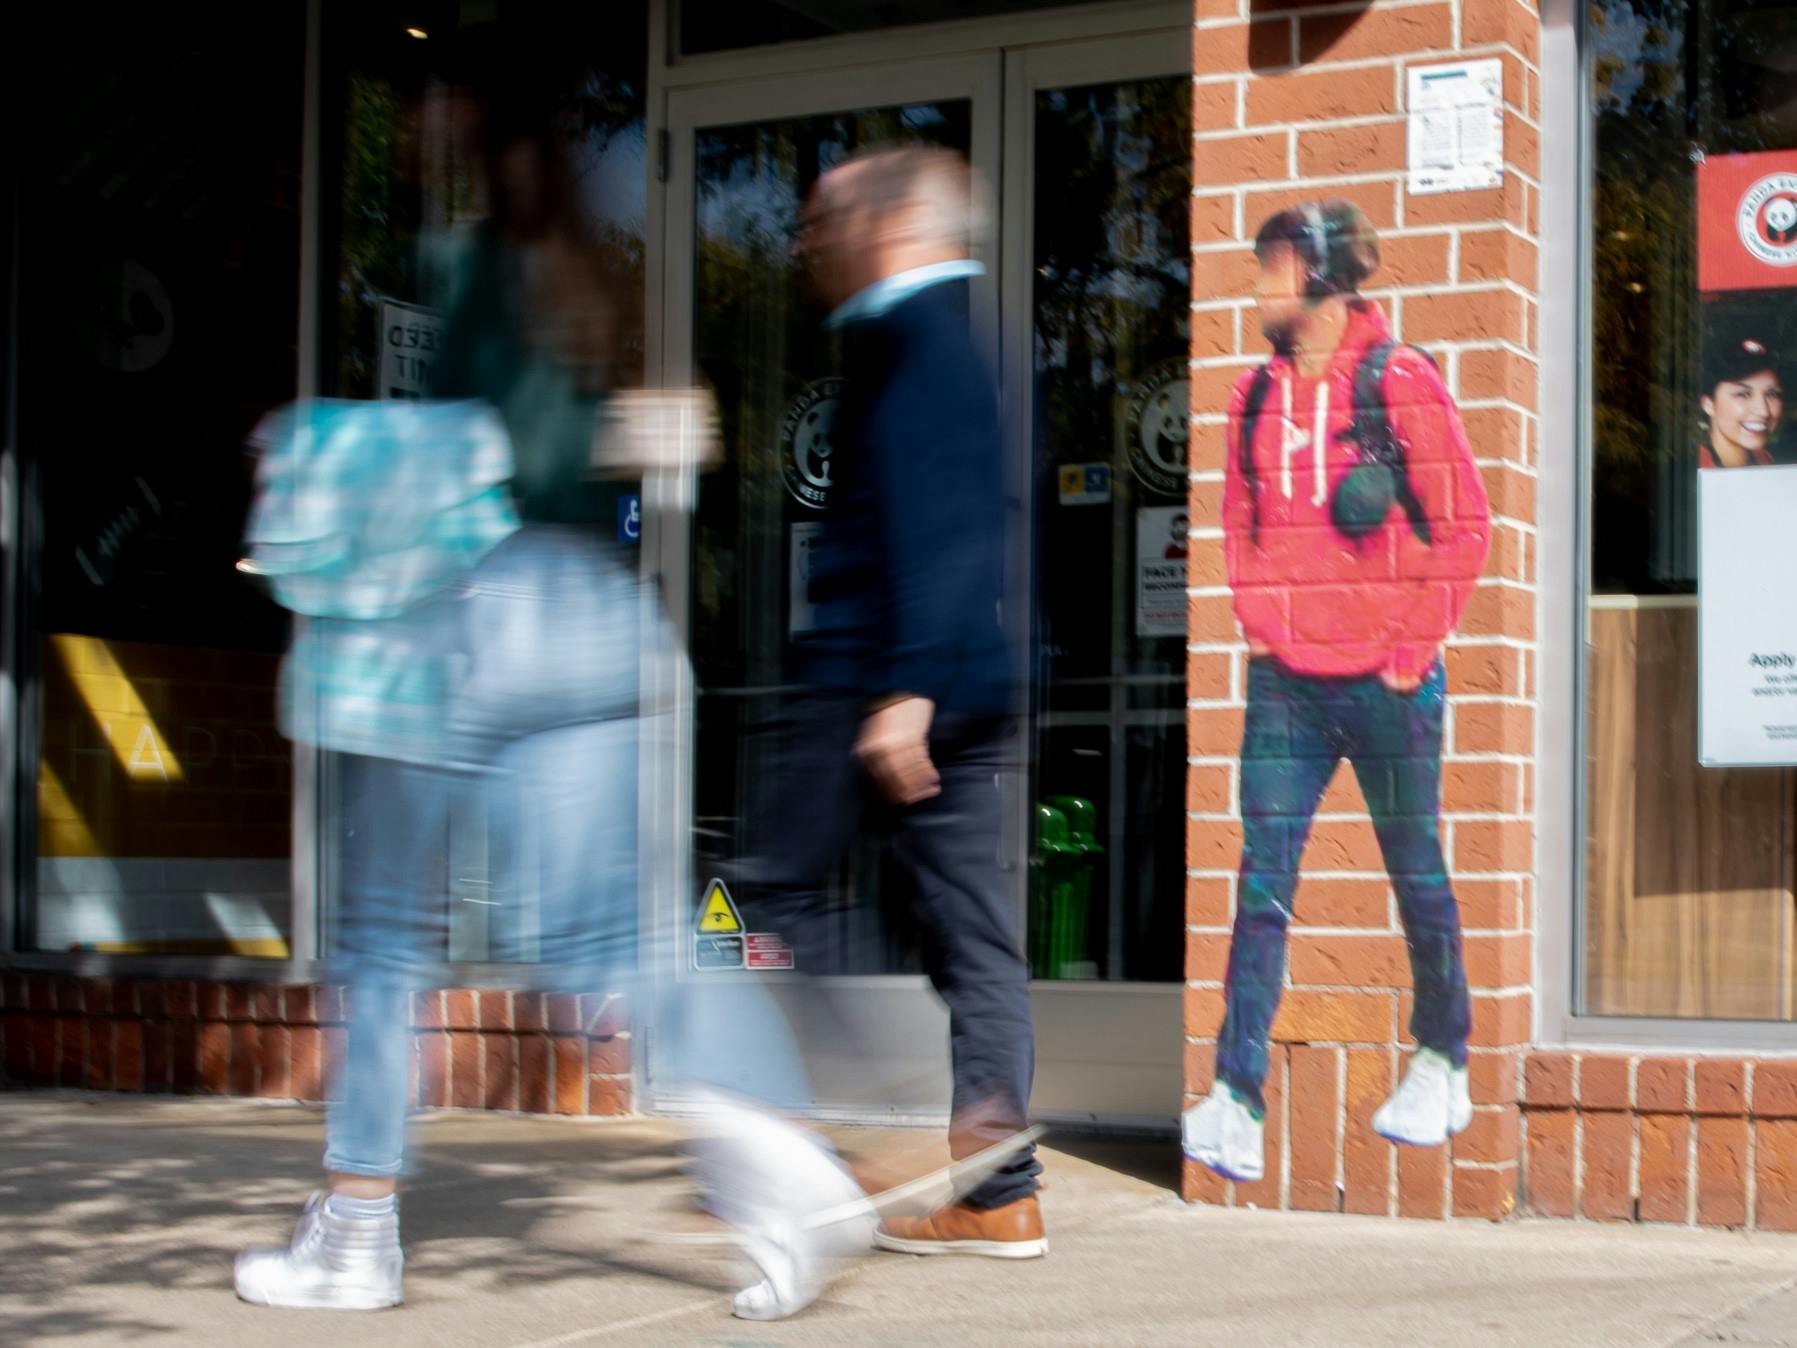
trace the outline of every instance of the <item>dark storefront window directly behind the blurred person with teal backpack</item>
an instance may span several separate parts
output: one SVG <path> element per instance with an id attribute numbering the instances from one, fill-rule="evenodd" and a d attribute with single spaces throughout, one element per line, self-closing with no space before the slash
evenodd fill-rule
<path id="1" fill-rule="evenodd" d="M 334 306 L 320 334 L 323 390 L 336 397 L 424 397 L 442 336 L 431 253 L 487 226 L 487 189 L 465 81 L 532 81 L 568 137 L 586 243 L 616 306 L 611 383 L 643 381 L 645 86 L 649 11 L 575 0 L 338 5 L 325 29 L 327 207 L 323 253 Z M 636 483 L 618 483 L 616 494 Z M 607 485 L 607 491 L 611 487 Z M 609 512 L 609 507 L 607 510 Z M 318 769 L 320 951 L 336 949 L 340 762 Z M 539 936 L 528 893 L 501 893 L 483 798 L 453 805 L 440 854 L 447 911 L 435 931 L 451 963 L 528 958 Z"/>

